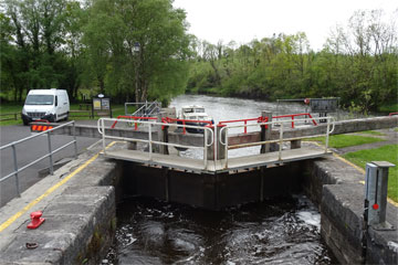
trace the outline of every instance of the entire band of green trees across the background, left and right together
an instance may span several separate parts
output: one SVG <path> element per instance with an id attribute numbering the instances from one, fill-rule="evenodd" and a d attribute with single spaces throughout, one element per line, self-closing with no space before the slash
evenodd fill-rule
<path id="1" fill-rule="evenodd" d="M 395 22 L 357 11 L 314 52 L 304 32 L 241 45 L 198 40 L 172 0 L 3 0 L 0 96 L 21 102 L 29 89 L 56 87 L 121 103 L 186 92 L 341 97 L 367 112 L 397 102 Z"/>

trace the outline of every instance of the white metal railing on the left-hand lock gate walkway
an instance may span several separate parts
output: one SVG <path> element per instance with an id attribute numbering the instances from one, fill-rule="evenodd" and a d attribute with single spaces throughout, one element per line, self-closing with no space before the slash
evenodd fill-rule
<path id="1" fill-rule="evenodd" d="M 148 144 L 149 146 L 149 151 L 148 151 L 148 159 L 151 160 L 153 159 L 153 146 L 154 145 L 159 145 L 159 146 L 168 146 L 168 147 L 177 147 L 177 148 L 192 148 L 192 149 L 202 149 L 203 150 L 203 168 L 207 169 L 208 167 L 208 148 L 213 146 L 214 144 L 214 131 L 213 131 L 213 127 L 203 127 L 203 126 L 193 126 L 193 125 L 179 125 L 179 124 L 165 124 L 165 123 L 157 123 L 157 121 L 145 121 L 142 120 L 139 121 L 139 124 L 142 125 L 139 131 L 146 131 L 148 132 L 148 138 L 147 139 L 139 139 L 139 138 L 127 138 L 127 137 L 118 137 L 118 136 L 111 136 L 111 135 L 106 135 L 106 130 L 108 129 L 105 127 L 105 121 L 115 121 L 117 120 L 118 123 L 130 123 L 129 119 L 115 119 L 115 118 L 101 118 L 98 119 L 97 126 L 98 126 L 98 132 L 102 135 L 102 139 L 103 139 L 103 151 L 106 155 L 106 150 L 105 150 L 105 140 L 106 139 L 115 139 L 115 140 L 124 140 L 124 141 L 134 141 L 134 142 L 144 142 L 144 144 Z M 203 146 L 188 146 L 188 145 L 180 145 L 180 144 L 172 144 L 172 142 L 164 142 L 164 141 L 158 141 L 158 140 L 154 140 L 153 139 L 153 132 L 154 129 L 153 127 L 161 127 L 161 126 L 168 126 L 168 127 L 186 127 L 186 128 L 192 128 L 192 129 L 202 129 L 203 130 Z M 145 128 L 147 128 L 147 130 L 144 130 Z"/>

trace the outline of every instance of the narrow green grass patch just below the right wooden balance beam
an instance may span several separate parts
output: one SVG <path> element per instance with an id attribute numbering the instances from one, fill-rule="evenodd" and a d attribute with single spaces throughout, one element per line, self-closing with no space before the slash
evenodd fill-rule
<path id="1" fill-rule="evenodd" d="M 308 140 L 321 141 L 323 145 L 325 145 L 325 137 L 316 137 L 316 138 L 311 138 Z M 383 141 L 383 139 L 376 137 L 366 137 L 366 136 L 334 135 L 329 137 L 328 146 L 333 148 L 343 148 L 350 146 L 360 146 L 377 141 Z"/>

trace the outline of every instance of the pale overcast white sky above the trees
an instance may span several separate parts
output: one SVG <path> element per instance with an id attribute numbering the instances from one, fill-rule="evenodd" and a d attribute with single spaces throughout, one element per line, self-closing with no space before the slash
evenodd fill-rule
<path id="1" fill-rule="evenodd" d="M 174 7 L 186 10 L 188 32 L 200 40 L 243 44 L 303 31 L 315 51 L 356 10 L 383 9 L 386 18 L 398 15 L 397 0 L 175 0 Z"/>

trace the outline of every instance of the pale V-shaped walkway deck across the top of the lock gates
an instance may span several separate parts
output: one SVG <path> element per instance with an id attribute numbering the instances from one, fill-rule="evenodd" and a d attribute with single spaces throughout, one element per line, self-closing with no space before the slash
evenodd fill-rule
<path id="1" fill-rule="evenodd" d="M 247 168 L 255 168 L 271 165 L 279 165 L 284 162 L 300 161 L 306 159 L 314 159 L 327 156 L 332 152 L 325 152 L 324 148 L 312 146 L 300 149 L 289 149 L 282 151 L 282 160 L 279 160 L 279 152 L 268 152 L 262 155 L 253 155 L 247 157 L 229 158 L 228 169 L 226 169 L 226 161 L 208 161 L 205 168 L 203 160 L 178 157 L 175 155 L 151 153 L 149 159 L 148 152 L 137 150 L 114 150 L 106 151 L 105 157 L 113 159 L 127 160 L 133 162 L 147 163 L 151 166 L 161 166 L 174 169 L 189 170 L 195 172 L 216 173 L 229 170 L 239 170 Z"/>

